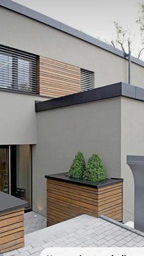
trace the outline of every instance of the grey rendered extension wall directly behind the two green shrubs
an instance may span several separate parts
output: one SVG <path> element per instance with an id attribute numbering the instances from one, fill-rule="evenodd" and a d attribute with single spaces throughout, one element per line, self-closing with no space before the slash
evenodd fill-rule
<path id="1" fill-rule="evenodd" d="M 77 151 L 98 152 L 107 177 L 120 177 L 120 98 L 37 113 L 33 145 L 33 210 L 46 214 L 46 174 L 67 172 Z"/>

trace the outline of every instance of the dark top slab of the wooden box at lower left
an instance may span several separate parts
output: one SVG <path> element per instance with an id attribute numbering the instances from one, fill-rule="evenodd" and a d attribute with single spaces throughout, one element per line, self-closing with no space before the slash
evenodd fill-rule
<path id="1" fill-rule="evenodd" d="M 28 206 L 28 203 L 17 197 L 10 196 L 0 191 L 0 214 Z"/>

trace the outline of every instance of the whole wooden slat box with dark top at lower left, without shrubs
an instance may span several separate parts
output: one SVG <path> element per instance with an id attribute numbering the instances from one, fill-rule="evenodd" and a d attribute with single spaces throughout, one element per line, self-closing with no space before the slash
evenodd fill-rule
<path id="1" fill-rule="evenodd" d="M 28 203 L 0 191 L 0 254 L 24 246 L 24 207 Z"/>

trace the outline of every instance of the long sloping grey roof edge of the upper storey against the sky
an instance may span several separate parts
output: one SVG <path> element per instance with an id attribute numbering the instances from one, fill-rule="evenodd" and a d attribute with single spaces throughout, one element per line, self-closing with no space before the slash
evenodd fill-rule
<path id="1" fill-rule="evenodd" d="M 87 35 L 84 32 L 78 31 L 77 29 L 74 29 L 73 27 L 63 24 L 60 21 L 54 20 L 42 13 L 39 13 L 32 9 L 29 9 L 28 7 L 25 7 L 24 5 L 18 4 L 11 0 L 0 0 L 0 6 L 6 8 L 6 9 L 12 10 L 13 12 L 17 12 L 24 16 L 32 18 L 33 20 L 37 20 L 41 23 L 47 24 L 48 26 L 59 29 L 62 32 L 73 35 L 74 37 L 77 37 L 87 43 L 91 43 L 92 45 L 95 45 L 101 49 L 109 51 L 110 53 L 113 53 L 117 56 L 123 57 L 124 59 L 128 59 L 128 57 L 126 57 L 126 54 L 123 51 L 121 51 L 120 49 L 117 49 L 117 48 L 113 47 L 112 45 L 108 45 L 107 43 L 105 43 L 101 40 L 98 40 L 95 37 Z M 137 59 L 133 56 L 132 56 L 131 60 L 135 64 L 144 67 L 144 62 L 142 60 Z"/>

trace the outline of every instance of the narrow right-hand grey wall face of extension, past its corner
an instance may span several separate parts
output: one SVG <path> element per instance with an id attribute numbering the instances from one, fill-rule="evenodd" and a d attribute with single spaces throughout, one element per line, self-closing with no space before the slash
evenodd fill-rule
<path id="1" fill-rule="evenodd" d="M 123 219 L 134 219 L 134 179 L 126 155 L 144 155 L 144 103 L 121 98 L 121 177 L 124 178 Z"/>

